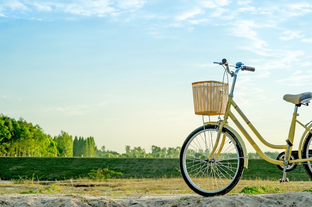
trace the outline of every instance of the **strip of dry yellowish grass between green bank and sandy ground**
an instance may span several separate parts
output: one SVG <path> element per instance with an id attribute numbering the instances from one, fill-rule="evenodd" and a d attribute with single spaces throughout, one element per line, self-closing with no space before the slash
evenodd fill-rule
<path id="1" fill-rule="evenodd" d="M 245 187 L 268 187 L 278 191 L 268 193 L 286 193 L 294 191 L 307 191 L 312 189 L 312 182 L 289 182 L 280 184 L 279 181 L 267 180 L 241 180 L 230 193 L 240 193 Z M 121 197 L 142 194 L 187 194 L 193 193 L 182 178 L 170 179 L 110 179 L 103 181 L 90 181 L 80 179 L 74 181 L 54 182 L 3 182 L 0 181 L 0 195 L 16 193 L 42 193 L 62 195 L 101 195 Z"/>

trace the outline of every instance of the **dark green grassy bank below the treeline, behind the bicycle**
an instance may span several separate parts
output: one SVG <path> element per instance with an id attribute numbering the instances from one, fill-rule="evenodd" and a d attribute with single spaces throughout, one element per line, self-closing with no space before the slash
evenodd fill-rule
<path id="1" fill-rule="evenodd" d="M 0 179 L 67 180 L 86 178 L 93 169 L 122 172 L 123 178 L 181 178 L 178 159 L 0 157 Z M 279 180 L 283 173 L 265 160 L 249 160 L 243 180 Z M 302 165 L 290 181 L 309 181 Z"/>

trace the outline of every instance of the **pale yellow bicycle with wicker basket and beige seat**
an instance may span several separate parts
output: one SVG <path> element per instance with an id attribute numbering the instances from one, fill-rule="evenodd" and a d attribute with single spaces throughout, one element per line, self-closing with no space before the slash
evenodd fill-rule
<path id="1" fill-rule="evenodd" d="M 192 84 L 195 114 L 219 115 L 218 121 L 204 122 L 202 126 L 192 131 L 184 141 L 180 152 L 180 170 L 188 187 L 202 196 L 224 195 L 230 192 L 240 180 L 244 167 L 248 167 L 248 154 L 242 137 L 228 125 L 229 118 L 246 137 L 256 152 L 266 161 L 278 165 L 283 171 L 280 182 L 288 182 L 287 172 L 303 164 L 307 174 L 312 179 L 312 121 L 303 124 L 297 119 L 298 107 L 309 105 L 312 93 L 285 95 L 284 100 L 295 104 L 295 110 L 290 126 L 288 139 L 284 145 L 274 145 L 267 142 L 246 115 L 233 100 L 237 75 L 240 71 L 255 71 L 253 67 L 244 66 L 241 62 L 230 71 L 228 61 L 214 62 L 222 65 L 225 71 L 233 77 L 230 92 L 228 84 L 217 81 L 204 81 Z M 256 137 L 266 146 L 273 149 L 283 149 L 277 159 L 268 157 L 255 143 L 247 130 L 237 120 L 232 109 L 246 122 Z M 221 119 L 220 115 L 224 114 Z M 292 150 L 295 126 L 297 123 L 305 128 L 300 140 L 298 151 Z"/>

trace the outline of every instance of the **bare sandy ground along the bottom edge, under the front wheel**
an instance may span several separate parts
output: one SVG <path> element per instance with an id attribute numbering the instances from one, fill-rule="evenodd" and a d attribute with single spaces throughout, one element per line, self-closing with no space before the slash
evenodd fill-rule
<path id="1" fill-rule="evenodd" d="M 244 195 L 204 198 L 196 194 L 136 195 L 113 199 L 85 195 L 63 197 L 46 194 L 0 196 L 2 207 L 309 207 L 312 193 Z"/>

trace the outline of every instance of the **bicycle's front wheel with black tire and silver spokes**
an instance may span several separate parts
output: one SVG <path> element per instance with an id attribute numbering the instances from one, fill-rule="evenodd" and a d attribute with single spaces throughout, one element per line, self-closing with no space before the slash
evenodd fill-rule
<path id="1" fill-rule="evenodd" d="M 224 127 L 216 152 L 211 160 L 207 159 L 215 145 L 217 128 L 218 125 L 213 124 L 198 127 L 188 135 L 180 152 L 180 170 L 185 183 L 205 197 L 227 194 L 244 171 L 243 149 L 236 136 Z M 222 137 L 225 141 L 219 151 Z"/>

